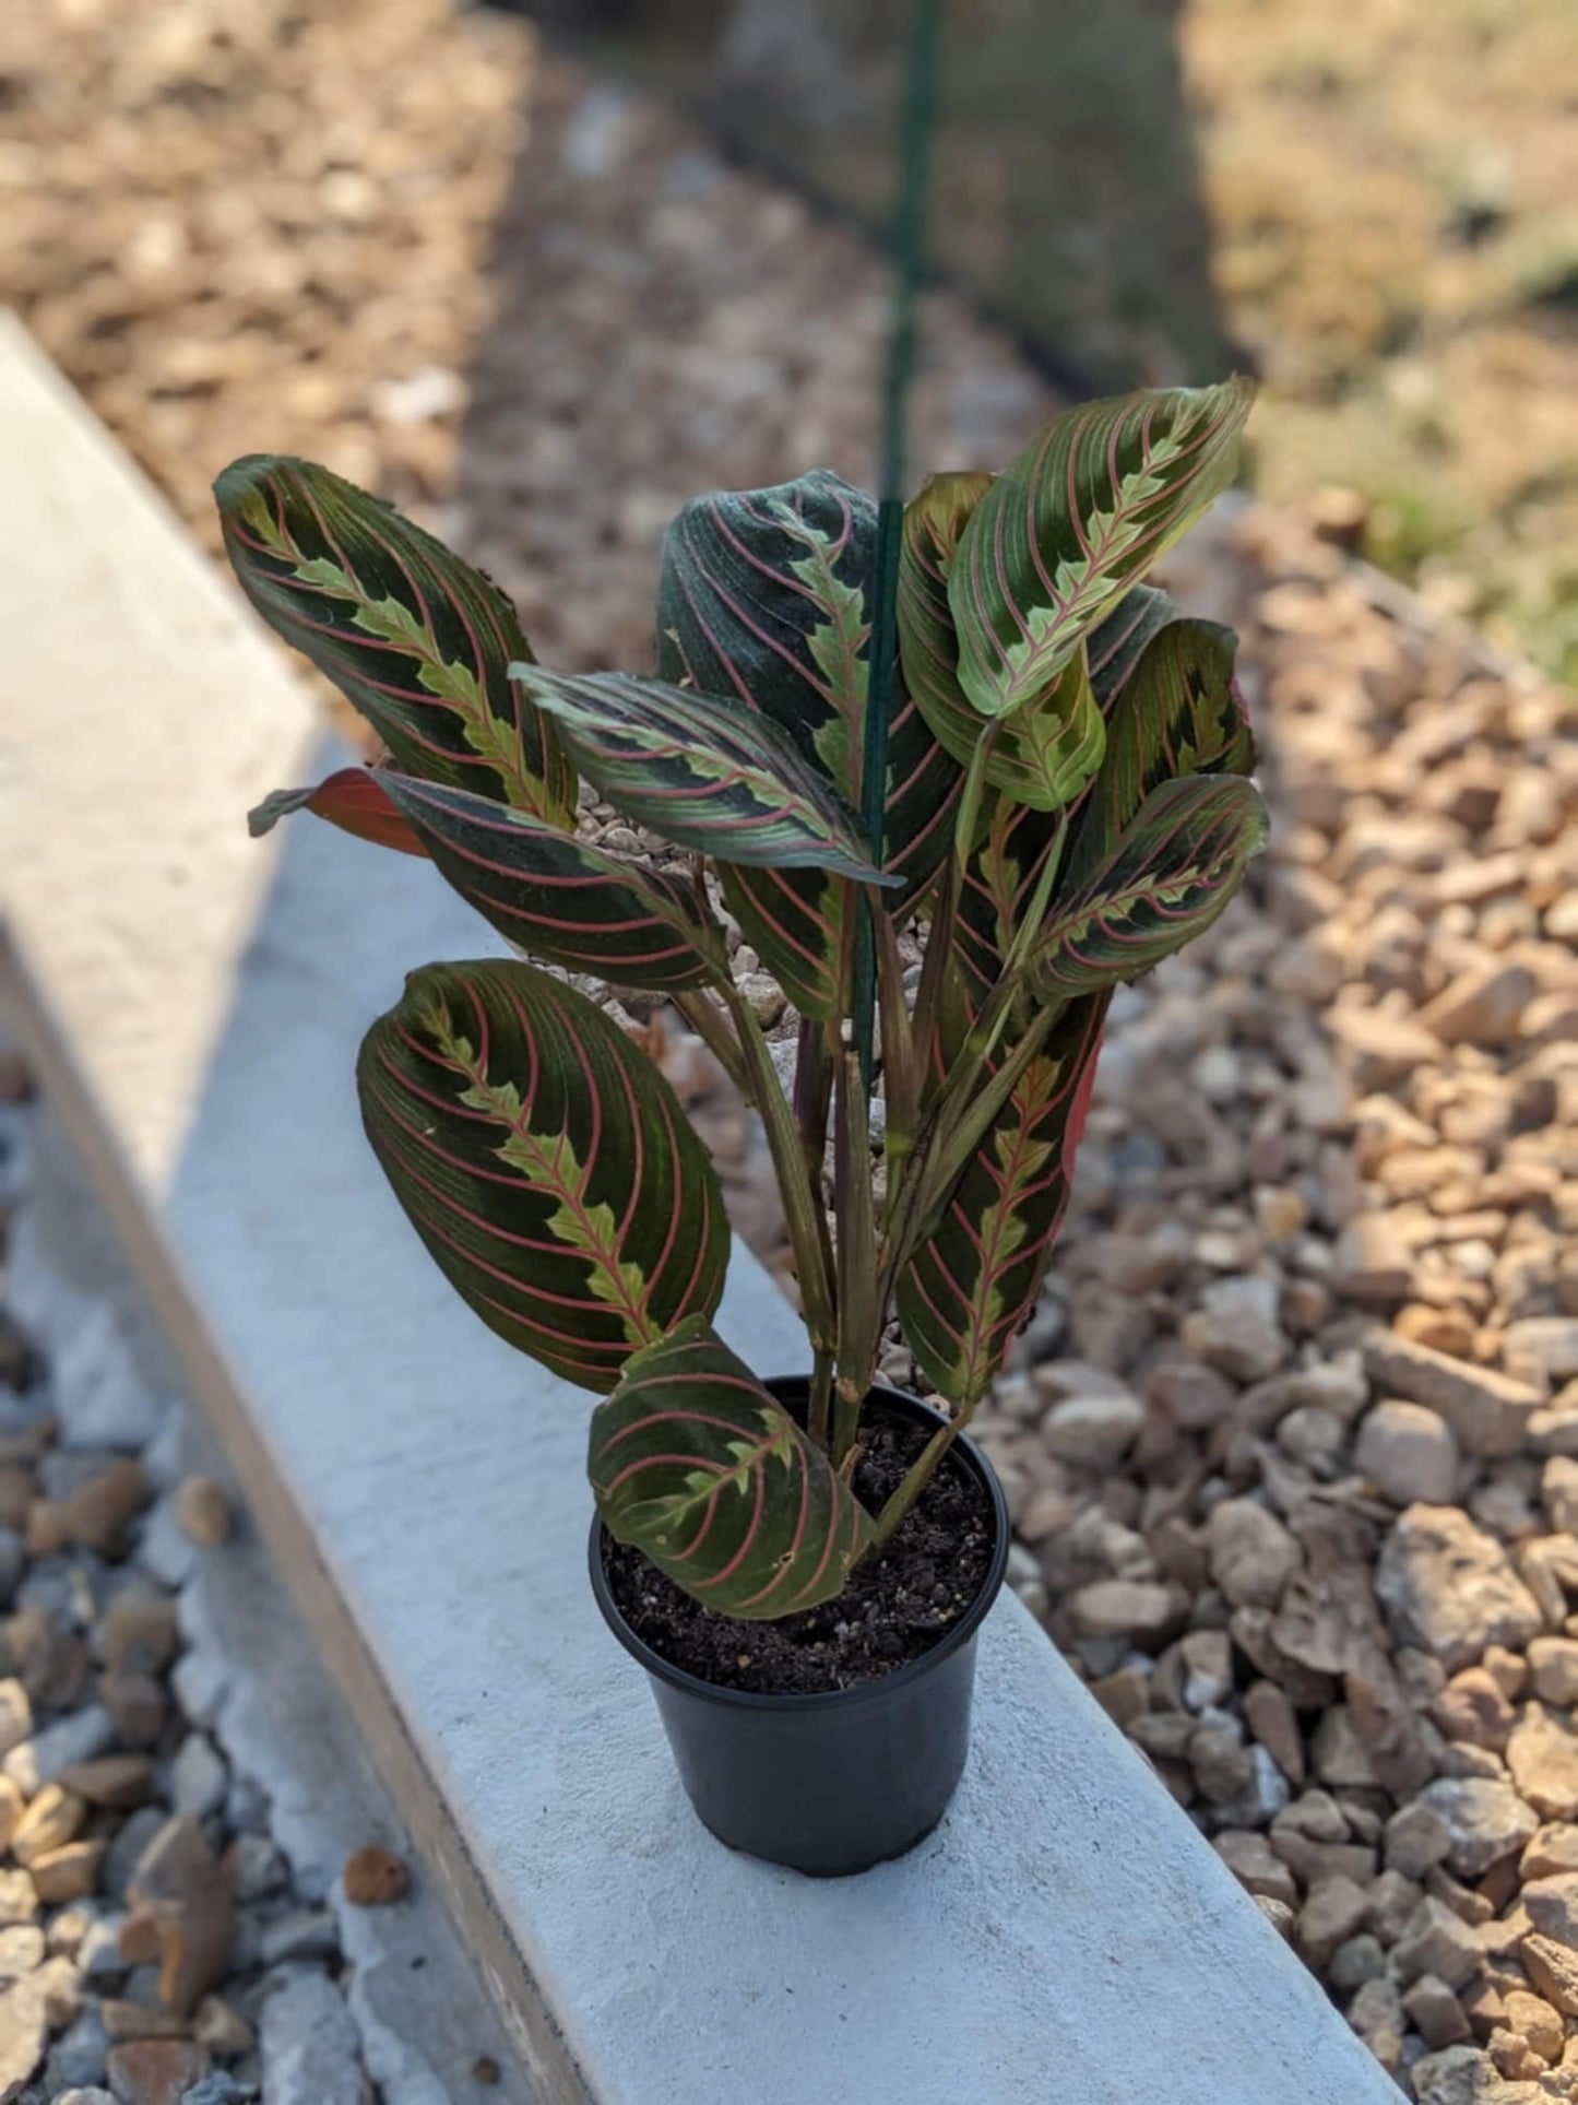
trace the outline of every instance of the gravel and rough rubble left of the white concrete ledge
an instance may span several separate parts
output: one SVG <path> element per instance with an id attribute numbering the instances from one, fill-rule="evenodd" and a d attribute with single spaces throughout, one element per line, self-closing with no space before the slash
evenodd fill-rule
<path id="1" fill-rule="evenodd" d="M 15 1063 L 0 1059 L 0 1076 L 11 1099 L 25 1095 Z M 412 1876 L 379 1840 L 377 1817 L 360 1850 L 335 1852 L 322 1815 L 313 1823 L 316 1787 L 276 1770 L 276 1804 L 246 1770 L 263 1741 L 231 1720 L 229 1690 L 267 1684 L 297 1705 L 297 1741 L 322 1735 L 311 1709 L 322 1692 L 280 1680 L 286 1610 L 265 1596 L 269 1581 L 259 1585 L 257 1545 L 229 1499 L 185 1467 L 194 1442 L 181 1404 L 160 1398 L 151 1425 L 120 1410 L 120 1444 L 97 1444 L 112 1425 L 105 1396 L 151 1391 L 124 1318 L 103 1301 L 78 1305 L 74 1286 L 42 1269 L 48 1234 L 27 1217 L 32 1137 L 32 1109 L 0 1103 L 0 1311 L 8 1288 L 65 1311 L 72 1345 L 53 1362 L 29 1347 L 13 1362 L 23 1385 L 0 1383 L 0 1497 L 15 1503 L 27 1543 L 15 1583 L 0 1587 L 0 2101 L 431 2099 L 431 2033 L 412 2019 L 406 2048 L 387 2008 L 391 1974 L 412 2002 L 414 1943 L 463 2042 L 480 1996 L 457 1991 L 431 1903 L 421 1913 L 387 1905 L 406 1899 Z M 93 1400 L 86 1412 L 74 1408 L 76 1383 Z M 137 1490 L 135 1505 L 118 1492 L 114 1526 L 88 1541 L 82 1528 L 40 1526 L 40 1511 L 105 1482 Z M 240 1560 L 231 1577 L 225 1560 Z M 215 1587 L 263 1619 L 265 1669 L 255 1631 L 215 1642 Z M 343 1762 L 343 1751 L 324 1739 L 320 1758 Z M 358 1930 L 343 1937 L 326 1903 L 358 1859 L 358 1892 L 343 1894 Z M 389 1941 L 370 1928 L 370 1909 Z M 490 2021 L 478 2023 L 463 2065 L 484 2044 L 494 2046 Z M 452 2097 L 520 2099 L 520 2078 L 457 2078 Z"/>

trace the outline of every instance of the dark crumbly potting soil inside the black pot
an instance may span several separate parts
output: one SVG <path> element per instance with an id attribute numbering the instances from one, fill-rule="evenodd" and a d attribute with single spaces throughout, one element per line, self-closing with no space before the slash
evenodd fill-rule
<path id="1" fill-rule="evenodd" d="M 867 1410 L 854 1490 L 869 1513 L 898 1488 L 928 1431 Z M 778 1623 L 713 1615 L 650 1564 L 604 1537 L 604 1575 L 631 1631 L 717 1688 L 827 1695 L 882 1680 L 928 1652 L 980 1593 L 991 1564 L 991 1501 L 947 1461 L 882 1558 L 856 1566 L 837 1600 Z"/>

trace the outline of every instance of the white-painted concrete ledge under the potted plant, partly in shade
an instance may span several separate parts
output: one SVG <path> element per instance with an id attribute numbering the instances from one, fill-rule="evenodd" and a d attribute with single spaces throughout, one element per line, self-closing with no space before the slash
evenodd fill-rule
<path id="1" fill-rule="evenodd" d="M 587 1400 L 473 1324 L 356 1120 L 366 1019 L 490 939 L 326 827 L 246 844 L 322 764 L 303 699 L 15 330 L 0 425 L 13 994 L 541 2097 L 1395 2101 L 1018 1602 L 913 1857 L 814 1884 L 701 1831 L 585 1589 Z M 804 1360 L 745 1252 L 724 1326 Z"/>

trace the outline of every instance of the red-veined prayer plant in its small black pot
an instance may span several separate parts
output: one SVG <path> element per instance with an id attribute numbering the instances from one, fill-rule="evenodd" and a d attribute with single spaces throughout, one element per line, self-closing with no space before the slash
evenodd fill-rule
<path id="1" fill-rule="evenodd" d="M 936 476 L 886 585 L 833 474 L 701 497 L 656 678 L 537 665 L 486 577 L 322 467 L 217 484 L 252 604 L 385 747 L 255 831 L 305 806 L 425 855 L 537 960 L 410 975 L 362 1044 L 372 1149 L 476 1314 L 602 1398 L 598 1604 L 703 1821 L 804 1871 L 903 1852 L 957 1783 L 1008 1556 L 966 1427 L 1046 1274 L 1111 989 L 1265 842 L 1235 638 L 1142 583 L 1248 404 L 1094 402 L 1002 476 Z M 671 848 L 576 831 L 576 777 Z M 800 1017 L 789 1088 L 730 918 Z M 713 1330 L 717 1175 L 587 975 L 671 1002 L 760 1111 L 808 1370 Z M 890 1309 L 932 1402 L 875 1383 Z"/>

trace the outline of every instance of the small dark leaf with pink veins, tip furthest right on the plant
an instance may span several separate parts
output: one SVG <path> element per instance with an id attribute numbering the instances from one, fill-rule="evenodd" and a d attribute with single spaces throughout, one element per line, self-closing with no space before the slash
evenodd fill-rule
<path id="1" fill-rule="evenodd" d="M 1037 1000 L 1136 979 L 1193 943 L 1265 844 L 1267 808 L 1241 775 L 1161 783 L 1111 855 L 1058 897 L 1031 962 Z"/>

